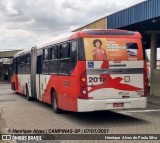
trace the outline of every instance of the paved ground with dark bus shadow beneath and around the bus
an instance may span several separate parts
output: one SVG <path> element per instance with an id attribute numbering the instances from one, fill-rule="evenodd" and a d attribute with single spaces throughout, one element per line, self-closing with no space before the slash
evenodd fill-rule
<path id="1" fill-rule="evenodd" d="M 1 128 L 7 130 L 49 129 L 108 129 L 109 134 L 160 133 L 160 106 L 148 104 L 145 110 L 103 111 L 91 113 L 55 114 L 52 108 L 38 101 L 27 99 L 10 90 L 10 85 L 0 83 Z M 5 122 L 4 122 L 5 121 Z M 44 141 L 43 141 L 44 142 Z M 49 141 L 47 141 L 49 142 Z M 50 141 L 51 142 L 51 141 Z M 53 141 L 52 141 L 53 142 Z M 54 141 L 74 142 L 74 141 Z M 86 142 L 86 141 L 77 141 Z M 94 141 L 88 141 L 94 142 Z M 95 141 L 97 142 L 97 141 Z M 104 141 L 98 141 L 104 142 Z M 112 141 L 116 142 L 116 141 Z M 117 141 L 118 142 L 118 141 Z M 124 142 L 124 141 L 121 141 Z M 126 141 L 128 142 L 128 141 Z M 130 141 L 137 142 L 137 141 Z M 147 141 L 142 141 L 147 142 Z M 148 141 L 148 143 L 151 141 Z M 153 142 L 153 141 L 152 141 Z M 156 141 L 155 141 L 156 142 Z M 158 141 L 157 141 L 158 142 Z"/>

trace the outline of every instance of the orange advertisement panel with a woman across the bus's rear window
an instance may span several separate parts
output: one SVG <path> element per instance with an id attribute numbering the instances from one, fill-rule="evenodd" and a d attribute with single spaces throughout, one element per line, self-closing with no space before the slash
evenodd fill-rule
<path id="1" fill-rule="evenodd" d="M 141 39 L 84 38 L 86 60 L 143 60 Z"/>

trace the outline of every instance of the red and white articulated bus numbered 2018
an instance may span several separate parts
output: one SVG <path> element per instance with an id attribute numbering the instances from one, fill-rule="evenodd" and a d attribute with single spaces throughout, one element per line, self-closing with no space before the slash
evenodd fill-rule
<path id="1" fill-rule="evenodd" d="M 13 58 L 12 90 L 54 112 L 146 108 L 141 35 L 86 29 L 53 38 Z"/>

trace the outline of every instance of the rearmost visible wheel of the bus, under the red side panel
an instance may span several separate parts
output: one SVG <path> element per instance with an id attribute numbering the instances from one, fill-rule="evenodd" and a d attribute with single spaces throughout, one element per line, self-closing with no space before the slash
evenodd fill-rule
<path id="1" fill-rule="evenodd" d="M 56 94 L 56 92 L 52 93 L 52 108 L 53 108 L 53 111 L 57 114 L 61 112 L 61 109 L 59 109 L 58 105 L 57 105 L 57 94 Z"/>

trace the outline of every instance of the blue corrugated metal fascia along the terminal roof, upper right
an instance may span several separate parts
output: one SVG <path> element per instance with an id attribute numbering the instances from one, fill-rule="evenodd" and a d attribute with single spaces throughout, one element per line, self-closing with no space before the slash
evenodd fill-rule
<path id="1" fill-rule="evenodd" d="M 160 16 L 160 0 L 148 0 L 107 16 L 107 28 L 120 28 Z"/>

